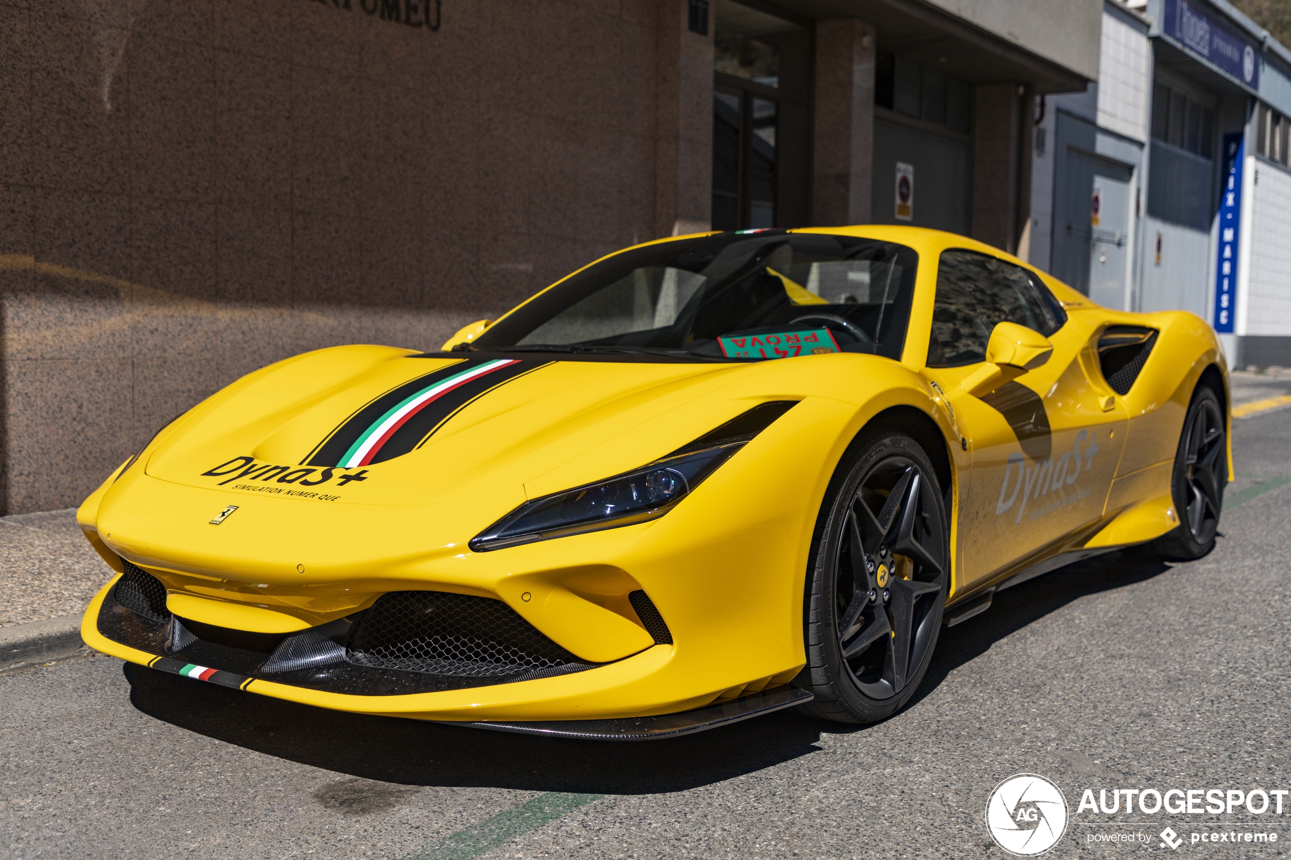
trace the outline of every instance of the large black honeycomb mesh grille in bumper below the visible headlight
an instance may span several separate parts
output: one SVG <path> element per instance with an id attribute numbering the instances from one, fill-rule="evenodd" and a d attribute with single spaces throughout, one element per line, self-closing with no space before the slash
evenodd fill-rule
<path id="1" fill-rule="evenodd" d="M 350 640 L 351 663 L 461 677 L 505 677 L 586 664 L 498 600 L 390 592 Z"/>

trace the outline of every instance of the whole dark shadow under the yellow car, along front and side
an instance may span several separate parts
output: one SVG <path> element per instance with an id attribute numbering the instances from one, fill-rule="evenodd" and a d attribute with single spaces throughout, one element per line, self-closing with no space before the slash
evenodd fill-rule
<path id="1" fill-rule="evenodd" d="M 910 704 L 997 641 L 1050 612 L 1166 570 L 1168 566 L 1157 560 L 1113 553 L 999 593 L 988 612 L 942 630 L 928 674 Z M 407 785 L 594 794 L 678 792 L 820 752 L 816 741 L 824 732 L 868 728 L 780 712 L 665 741 L 551 740 L 325 710 L 134 664 L 125 665 L 125 677 L 134 707 L 164 722 L 267 756 Z"/>

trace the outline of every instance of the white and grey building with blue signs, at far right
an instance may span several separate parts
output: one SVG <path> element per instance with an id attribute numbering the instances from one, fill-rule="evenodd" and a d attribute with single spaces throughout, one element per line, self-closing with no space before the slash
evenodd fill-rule
<path id="1" fill-rule="evenodd" d="M 1034 120 L 1030 262 L 1291 365 L 1291 53 L 1224 0 L 1106 0 L 1099 76 Z"/>

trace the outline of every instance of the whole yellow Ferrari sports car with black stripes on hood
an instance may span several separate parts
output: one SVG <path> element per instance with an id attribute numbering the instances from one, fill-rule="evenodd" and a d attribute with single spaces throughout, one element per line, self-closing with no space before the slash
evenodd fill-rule
<path id="1" fill-rule="evenodd" d="M 882 719 L 1006 585 L 1206 553 L 1228 375 L 962 236 L 759 230 L 611 254 L 442 351 L 258 370 L 81 505 L 85 641 L 324 708 L 665 738 Z"/>

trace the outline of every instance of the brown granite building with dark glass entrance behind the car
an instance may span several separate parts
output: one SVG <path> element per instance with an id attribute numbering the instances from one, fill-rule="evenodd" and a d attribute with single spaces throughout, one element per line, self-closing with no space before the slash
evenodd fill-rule
<path id="1" fill-rule="evenodd" d="M 0 509 L 338 343 L 438 348 L 625 245 L 1029 241 L 1096 0 L 0 0 Z"/>

